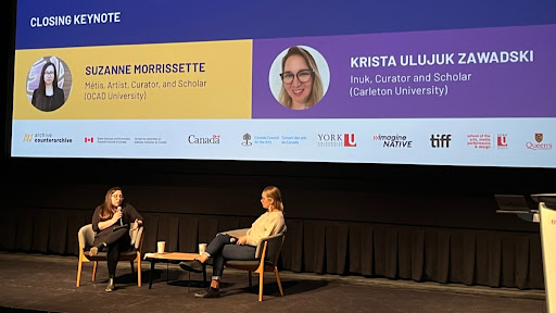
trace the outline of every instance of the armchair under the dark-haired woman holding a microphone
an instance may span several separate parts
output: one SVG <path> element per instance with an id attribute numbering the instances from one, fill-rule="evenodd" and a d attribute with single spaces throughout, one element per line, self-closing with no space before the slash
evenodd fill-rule
<path id="1" fill-rule="evenodd" d="M 134 262 L 137 263 L 137 286 L 141 287 L 141 249 L 143 246 L 143 227 L 137 227 L 135 223 L 131 223 L 129 237 L 131 237 L 131 249 L 129 251 L 122 252 L 119 261 L 129 261 L 131 263 L 131 272 L 134 270 Z M 89 256 L 89 250 L 94 242 L 94 230 L 92 230 L 92 224 L 83 226 L 77 233 L 77 239 L 79 240 L 79 259 L 77 264 L 77 287 L 81 283 L 81 270 L 84 262 L 94 262 L 92 267 L 92 281 L 97 276 L 98 261 L 106 261 L 106 252 L 99 252 L 94 256 Z"/>

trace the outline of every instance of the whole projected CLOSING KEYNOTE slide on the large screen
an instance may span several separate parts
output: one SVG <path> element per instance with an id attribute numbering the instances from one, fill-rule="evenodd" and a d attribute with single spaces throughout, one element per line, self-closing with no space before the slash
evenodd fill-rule
<path id="1" fill-rule="evenodd" d="M 17 1 L 11 155 L 556 167 L 555 3 L 208 2 Z"/>

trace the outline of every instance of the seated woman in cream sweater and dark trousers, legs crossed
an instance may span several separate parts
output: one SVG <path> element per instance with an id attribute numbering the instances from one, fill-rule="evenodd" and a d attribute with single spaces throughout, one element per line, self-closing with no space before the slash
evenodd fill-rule
<path id="1" fill-rule="evenodd" d="M 218 234 L 211 243 L 208 243 L 206 251 L 201 254 L 199 260 L 179 263 L 179 266 L 185 271 L 201 273 L 203 271 L 203 263 L 210 258 L 213 259 L 211 287 L 202 292 L 197 292 L 194 295 L 195 298 L 220 297 L 219 281 L 226 261 L 255 260 L 256 246 L 261 242 L 262 238 L 286 230 L 283 202 L 280 190 L 274 186 L 266 187 L 261 196 L 261 203 L 267 211 L 251 225 L 245 236 L 236 238 L 229 235 Z"/>

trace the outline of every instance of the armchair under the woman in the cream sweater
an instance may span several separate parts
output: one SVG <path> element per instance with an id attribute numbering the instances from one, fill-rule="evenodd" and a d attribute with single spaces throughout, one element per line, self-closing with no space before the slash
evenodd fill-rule
<path id="1" fill-rule="evenodd" d="M 225 231 L 230 236 L 240 237 L 247 234 L 249 228 L 235 229 Z M 265 237 L 261 240 L 261 243 L 256 247 L 255 260 L 254 261 L 237 261 L 228 260 L 225 264 L 226 267 L 244 270 L 248 271 L 249 275 L 249 287 L 252 287 L 252 273 L 258 273 L 258 301 L 263 301 L 263 286 L 264 286 L 264 273 L 274 272 L 276 276 L 276 283 L 280 290 L 280 296 L 283 296 L 282 284 L 280 281 L 280 275 L 278 273 L 278 259 L 286 238 L 286 227 L 280 234 Z"/>

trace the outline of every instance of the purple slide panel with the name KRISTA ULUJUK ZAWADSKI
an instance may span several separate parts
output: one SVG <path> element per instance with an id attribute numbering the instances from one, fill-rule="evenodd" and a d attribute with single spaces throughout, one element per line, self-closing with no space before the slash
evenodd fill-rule
<path id="1" fill-rule="evenodd" d="M 554 38 L 556 25 L 254 40 L 252 116 L 555 117 Z M 316 52 L 328 77 L 306 110 L 277 100 L 292 46 Z"/>

